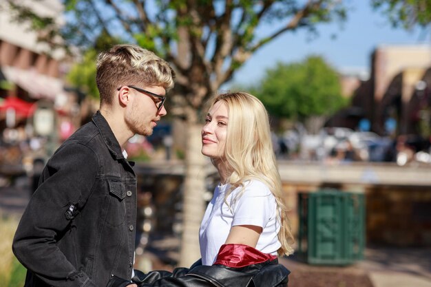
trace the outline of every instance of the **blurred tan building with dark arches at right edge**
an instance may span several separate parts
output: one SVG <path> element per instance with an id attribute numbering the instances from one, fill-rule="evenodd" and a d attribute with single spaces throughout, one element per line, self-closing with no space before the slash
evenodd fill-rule
<path id="1" fill-rule="evenodd" d="M 361 129 L 361 123 L 368 123 L 380 135 L 421 134 L 422 122 L 430 120 L 430 45 L 379 45 L 370 61 L 370 77 L 357 76 L 350 107 L 328 125 Z M 354 78 L 342 78 L 344 91 L 355 87 Z"/>

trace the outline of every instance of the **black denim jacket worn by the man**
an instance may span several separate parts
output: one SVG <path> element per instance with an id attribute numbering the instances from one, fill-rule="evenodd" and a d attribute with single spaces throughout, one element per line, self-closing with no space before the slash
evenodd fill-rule
<path id="1" fill-rule="evenodd" d="M 15 233 L 25 286 L 106 286 L 132 277 L 136 176 L 97 112 L 54 153 Z"/>

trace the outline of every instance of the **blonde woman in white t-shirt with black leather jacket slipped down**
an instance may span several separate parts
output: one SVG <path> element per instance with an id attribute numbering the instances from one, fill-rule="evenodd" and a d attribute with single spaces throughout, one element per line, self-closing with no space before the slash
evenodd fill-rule
<path id="1" fill-rule="evenodd" d="M 139 287 L 286 287 L 278 255 L 293 252 L 268 114 L 254 96 L 230 93 L 211 102 L 202 153 L 220 175 L 200 227 L 202 262 L 174 272 L 135 270 Z M 113 276 L 107 287 L 129 284 Z"/>

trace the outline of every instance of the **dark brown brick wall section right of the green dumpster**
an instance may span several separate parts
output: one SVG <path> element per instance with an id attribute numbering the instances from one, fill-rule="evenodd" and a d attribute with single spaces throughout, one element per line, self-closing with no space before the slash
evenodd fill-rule
<path id="1" fill-rule="evenodd" d="M 368 244 L 431 246 L 431 189 L 368 188 L 366 238 Z"/>

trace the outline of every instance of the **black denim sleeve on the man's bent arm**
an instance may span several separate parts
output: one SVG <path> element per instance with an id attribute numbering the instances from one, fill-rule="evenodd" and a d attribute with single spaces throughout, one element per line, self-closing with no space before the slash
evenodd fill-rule
<path id="1" fill-rule="evenodd" d="M 12 244 L 14 255 L 49 286 L 94 286 L 57 245 L 90 196 L 97 168 L 96 154 L 90 148 L 67 143 L 46 164 L 21 217 Z"/>

